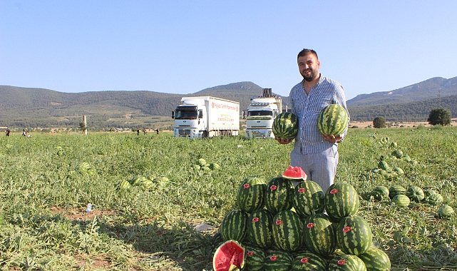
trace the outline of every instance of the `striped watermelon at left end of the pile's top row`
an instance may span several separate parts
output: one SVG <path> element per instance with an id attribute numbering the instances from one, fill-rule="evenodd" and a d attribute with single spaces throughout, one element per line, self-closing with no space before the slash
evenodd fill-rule
<path id="1" fill-rule="evenodd" d="M 267 183 L 258 177 L 247 177 L 242 181 L 237 192 L 237 205 L 240 210 L 251 213 L 265 205 Z"/>

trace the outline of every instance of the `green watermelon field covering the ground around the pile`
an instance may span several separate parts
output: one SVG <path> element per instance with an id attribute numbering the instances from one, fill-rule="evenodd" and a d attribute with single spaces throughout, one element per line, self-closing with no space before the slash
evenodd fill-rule
<path id="1" fill-rule="evenodd" d="M 268 182 L 289 166 L 292 144 L 243 137 L 1 136 L 1 270 L 212 270 L 213 236 L 238 209 L 242 181 Z M 392 270 L 457 270 L 456 215 L 438 215 L 443 205 L 457 208 L 455 127 L 349 129 L 339 153 L 335 182 L 359 193 L 357 215 Z M 148 185 L 132 185 L 138 176 Z M 443 199 L 402 207 L 374 197 L 381 185 Z"/>

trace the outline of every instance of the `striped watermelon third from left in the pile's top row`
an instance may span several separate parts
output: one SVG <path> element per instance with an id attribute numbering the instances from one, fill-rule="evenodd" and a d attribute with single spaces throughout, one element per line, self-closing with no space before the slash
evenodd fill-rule
<path id="1" fill-rule="evenodd" d="M 300 182 L 294 188 L 292 206 L 302 218 L 307 218 L 314 213 L 324 212 L 325 194 L 322 188 L 312 180 Z"/>

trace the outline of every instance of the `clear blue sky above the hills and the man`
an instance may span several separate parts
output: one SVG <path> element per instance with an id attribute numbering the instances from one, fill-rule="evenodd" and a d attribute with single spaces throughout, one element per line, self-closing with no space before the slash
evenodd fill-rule
<path id="1" fill-rule="evenodd" d="M 346 98 L 457 76 L 457 1 L 0 0 L 0 85 L 289 96 L 297 53 Z M 260 94 L 260 93 L 259 93 Z"/>

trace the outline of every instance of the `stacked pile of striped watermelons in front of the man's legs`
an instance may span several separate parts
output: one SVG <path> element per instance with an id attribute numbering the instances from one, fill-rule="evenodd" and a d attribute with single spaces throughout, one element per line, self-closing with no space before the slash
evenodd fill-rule
<path id="1" fill-rule="evenodd" d="M 303 176 L 296 186 L 284 176 L 242 181 L 238 209 L 214 237 L 214 270 L 390 270 L 389 257 L 372 246 L 369 224 L 356 215 L 354 187 L 335 183 L 324 193 Z"/>

